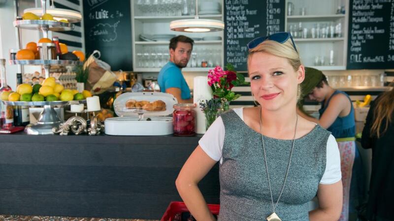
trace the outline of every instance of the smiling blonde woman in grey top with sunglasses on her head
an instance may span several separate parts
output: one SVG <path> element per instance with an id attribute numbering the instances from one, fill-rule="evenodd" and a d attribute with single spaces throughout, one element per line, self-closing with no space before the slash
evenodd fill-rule
<path id="1" fill-rule="evenodd" d="M 220 221 L 338 220 L 338 146 L 296 113 L 305 73 L 292 36 L 256 38 L 248 48 L 251 91 L 260 106 L 216 119 L 179 173 L 179 194 L 197 220 L 215 220 L 197 184 L 219 162 Z M 316 194 L 320 207 L 308 213 Z"/>

